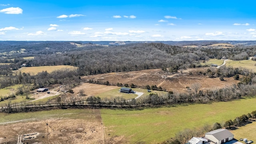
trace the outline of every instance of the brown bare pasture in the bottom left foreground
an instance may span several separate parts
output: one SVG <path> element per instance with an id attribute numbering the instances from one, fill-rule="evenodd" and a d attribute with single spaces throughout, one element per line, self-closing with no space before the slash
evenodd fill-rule
<path id="1" fill-rule="evenodd" d="M 48 126 L 46 125 L 48 123 Z M 29 144 L 102 144 L 104 130 L 100 114 L 95 119 L 48 119 L 0 125 L 0 143 L 17 144 L 18 136 L 39 133 L 22 140 Z"/>

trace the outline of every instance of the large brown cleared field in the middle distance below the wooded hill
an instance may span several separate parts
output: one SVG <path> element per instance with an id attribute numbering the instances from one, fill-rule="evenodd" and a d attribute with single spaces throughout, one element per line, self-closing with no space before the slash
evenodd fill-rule
<path id="1" fill-rule="evenodd" d="M 225 81 L 220 81 L 219 78 L 209 78 L 203 74 L 198 74 L 199 71 L 206 72 L 208 68 L 190 68 L 186 70 L 179 70 L 176 74 L 170 74 L 169 72 L 164 72 L 161 69 L 152 70 L 141 70 L 134 72 L 116 72 L 110 74 L 97 74 L 92 76 L 84 76 L 86 80 L 99 80 L 102 82 L 110 82 L 114 85 L 117 82 L 122 84 L 135 84 L 139 87 L 145 87 L 147 84 L 149 86 L 156 85 L 165 88 L 166 90 L 172 90 L 177 92 L 186 91 L 186 87 L 191 87 L 194 83 L 199 83 L 201 89 L 211 89 L 211 88 L 223 88 L 225 86 L 231 86 L 237 84 L 239 81 L 233 78 L 224 78 Z M 192 75 L 189 74 L 192 72 Z M 92 86 L 95 86 L 92 85 Z M 105 86 L 106 87 L 106 86 Z M 92 88 L 91 90 L 95 90 Z M 98 90 L 97 90 L 98 91 Z"/>

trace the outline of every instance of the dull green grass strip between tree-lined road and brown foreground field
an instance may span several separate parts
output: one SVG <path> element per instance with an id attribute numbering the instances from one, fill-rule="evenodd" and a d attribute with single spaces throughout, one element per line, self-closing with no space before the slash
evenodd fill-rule
<path id="1" fill-rule="evenodd" d="M 22 112 L 16 114 L 0 113 L 0 123 L 19 120 L 44 120 L 49 118 L 94 119 L 99 114 L 96 109 L 46 110 L 39 112 Z"/>

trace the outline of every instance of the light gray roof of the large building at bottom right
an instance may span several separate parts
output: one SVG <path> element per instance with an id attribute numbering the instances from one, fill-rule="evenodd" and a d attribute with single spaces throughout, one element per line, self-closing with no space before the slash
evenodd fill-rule
<path id="1" fill-rule="evenodd" d="M 218 129 L 218 130 L 213 130 L 211 132 L 207 132 L 205 134 L 209 134 L 214 136 L 217 140 L 224 140 L 226 138 L 229 138 L 231 136 L 234 136 L 230 131 L 226 129 Z"/>

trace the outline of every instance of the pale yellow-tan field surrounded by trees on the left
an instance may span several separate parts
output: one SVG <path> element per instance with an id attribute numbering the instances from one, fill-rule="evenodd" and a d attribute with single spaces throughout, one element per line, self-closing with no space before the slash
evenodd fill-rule
<path id="1" fill-rule="evenodd" d="M 47 71 L 51 73 L 54 70 L 62 69 L 62 68 L 76 68 L 74 66 L 68 65 L 59 65 L 59 66 L 32 66 L 32 67 L 22 67 L 19 70 L 23 73 L 31 72 L 33 74 L 37 74 L 38 72 Z"/>

